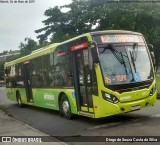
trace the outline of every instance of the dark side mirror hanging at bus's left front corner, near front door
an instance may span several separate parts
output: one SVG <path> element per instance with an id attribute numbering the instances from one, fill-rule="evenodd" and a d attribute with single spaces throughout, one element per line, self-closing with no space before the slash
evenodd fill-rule
<path id="1" fill-rule="evenodd" d="M 90 42 L 90 48 L 91 48 L 93 63 L 99 63 L 99 54 L 96 42 L 94 41 Z"/>

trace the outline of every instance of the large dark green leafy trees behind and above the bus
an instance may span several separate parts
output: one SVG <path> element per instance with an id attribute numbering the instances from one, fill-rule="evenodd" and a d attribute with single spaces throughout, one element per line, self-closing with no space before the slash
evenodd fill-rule
<path id="1" fill-rule="evenodd" d="M 73 0 L 71 4 L 45 11 L 45 27 L 35 32 L 41 44 L 51 36 L 51 42 L 61 42 L 74 36 L 100 30 L 124 29 L 141 32 L 147 43 L 154 45 L 156 65 L 160 66 L 160 4 L 111 3 L 107 0 Z M 63 12 L 67 8 L 67 12 Z"/>

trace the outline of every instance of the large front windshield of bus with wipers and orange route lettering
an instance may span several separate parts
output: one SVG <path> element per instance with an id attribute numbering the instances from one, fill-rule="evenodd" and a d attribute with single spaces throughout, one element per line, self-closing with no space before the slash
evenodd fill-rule
<path id="1" fill-rule="evenodd" d="M 145 45 L 99 46 L 99 59 L 105 85 L 137 83 L 153 79 Z"/>

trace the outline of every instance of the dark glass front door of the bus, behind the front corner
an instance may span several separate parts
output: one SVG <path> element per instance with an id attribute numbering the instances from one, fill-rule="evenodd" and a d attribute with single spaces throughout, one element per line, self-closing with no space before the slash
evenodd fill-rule
<path id="1" fill-rule="evenodd" d="M 80 113 L 93 113 L 91 70 L 89 69 L 89 50 L 77 50 L 73 55 L 75 94 Z"/>

